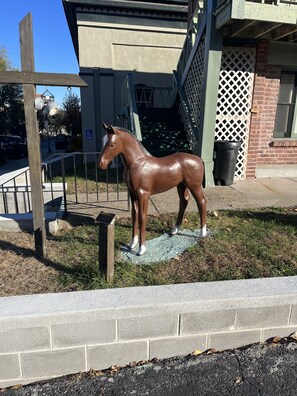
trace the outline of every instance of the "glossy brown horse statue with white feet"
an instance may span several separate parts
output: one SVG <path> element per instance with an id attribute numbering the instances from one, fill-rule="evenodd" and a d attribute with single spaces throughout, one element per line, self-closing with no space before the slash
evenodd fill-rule
<path id="1" fill-rule="evenodd" d="M 147 209 L 150 195 L 159 194 L 177 187 L 179 195 L 179 212 L 176 225 L 171 234 L 179 232 L 180 225 L 191 191 L 200 214 L 201 236 L 206 236 L 206 200 L 202 191 L 204 165 L 193 154 L 175 153 L 162 158 L 150 155 L 131 132 L 126 129 L 107 126 L 108 140 L 105 144 L 98 165 L 106 169 L 113 158 L 121 154 L 125 166 L 124 179 L 132 201 L 133 233 L 130 249 L 138 243 L 138 224 L 140 226 L 140 244 L 138 255 L 146 250 L 145 233 Z"/>

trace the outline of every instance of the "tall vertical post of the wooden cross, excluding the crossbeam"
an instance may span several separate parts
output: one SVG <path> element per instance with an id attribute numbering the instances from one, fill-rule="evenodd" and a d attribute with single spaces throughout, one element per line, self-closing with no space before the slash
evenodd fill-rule
<path id="1" fill-rule="evenodd" d="M 22 71 L 34 72 L 32 15 L 28 14 L 19 24 Z M 26 119 L 30 182 L 32 191 L 33 229 L 36 255 L 45 257 L 45 222 L 42 192 L 41 155 L 36 110 L 34 106 L 36 87 L 34 83 L 23 84 Z"/>

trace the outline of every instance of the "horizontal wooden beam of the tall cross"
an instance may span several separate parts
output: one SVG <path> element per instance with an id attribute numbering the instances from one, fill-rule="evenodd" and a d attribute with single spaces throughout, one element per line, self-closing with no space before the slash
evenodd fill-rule
<path id="1" fill-rule="evenodd" d="M 81 88 L 88 86 L 77 74 L 32 71 L 0 71 L 0 84 L 34 84 Z"/>

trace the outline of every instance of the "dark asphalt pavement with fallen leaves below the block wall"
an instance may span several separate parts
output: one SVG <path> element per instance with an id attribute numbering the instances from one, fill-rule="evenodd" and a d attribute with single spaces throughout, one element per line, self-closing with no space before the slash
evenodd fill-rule
<path id="1" fill-rule="evenodd" d="M 197 353 L 197 352 L 196 352 Z M 4 396 L 296 396 L 297 342 L 266 344 L 216 353 L 77 373 L 3 390 Z"/>

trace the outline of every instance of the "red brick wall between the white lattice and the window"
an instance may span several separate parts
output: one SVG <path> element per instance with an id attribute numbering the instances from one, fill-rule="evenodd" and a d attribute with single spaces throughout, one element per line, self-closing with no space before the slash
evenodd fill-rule
<path id="1" fill-rule="evenodd" d="M 257 168 L 297 165 L 297 142 L 273 139 L 281 67 L 267 64 L 268 42 L 257 47 L 247 178 Z"/>

